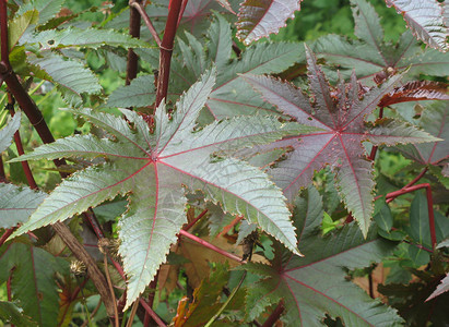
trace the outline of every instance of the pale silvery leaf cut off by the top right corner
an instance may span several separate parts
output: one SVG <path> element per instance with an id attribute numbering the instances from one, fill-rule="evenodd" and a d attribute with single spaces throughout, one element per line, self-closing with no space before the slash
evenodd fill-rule
<path id="1" fill-rule="evenodd" d="M 448 25 L 445 23 L 442 4 L 437 0 L 386 0 L 402 14 L 413 34 L 435 49 L 447 51 Z"/>

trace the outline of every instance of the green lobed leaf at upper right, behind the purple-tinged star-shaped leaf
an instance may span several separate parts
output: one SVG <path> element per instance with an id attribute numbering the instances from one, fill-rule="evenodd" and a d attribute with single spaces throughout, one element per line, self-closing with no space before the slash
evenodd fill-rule
<path id="1" fill-rule="evenodd" d="M 380 19 L 373 5 L 365 0 L 351 2 L 354 32 L 359 40 L 328 35 L 312 45 L 317 56 L 334 64 L 344 77 L 348 78 L 353 69 L 365 83 L 375 76 L 382 81 L 394 71 L 407 68 L 409 77 L 420 74 L 446 77 L 449 74 L 449 56 L 430 48 L 423 49 L 410 31 L 402 34 L 397 44 L 385 41 Z M 332 80 L 338 80 L 335 73 Z"/>

